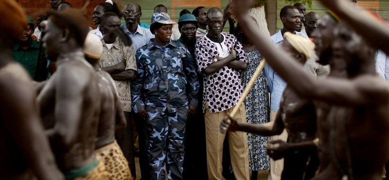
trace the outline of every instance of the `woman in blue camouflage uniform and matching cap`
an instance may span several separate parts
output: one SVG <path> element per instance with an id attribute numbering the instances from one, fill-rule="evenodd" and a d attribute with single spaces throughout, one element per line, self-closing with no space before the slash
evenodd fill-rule
<path id="1" fill-rule="evenodd" d="M 168 14 L 155 13 L 151 21 L 155 38 L 137 51 L 132 104 L 148 124 L 152 180 L 164 180 L 165 170 L 169 179 L 182 180 L 186 120 L 195 114 L 199 88 L 195 61 L 170 39 L 176 22 Z"/>

